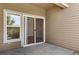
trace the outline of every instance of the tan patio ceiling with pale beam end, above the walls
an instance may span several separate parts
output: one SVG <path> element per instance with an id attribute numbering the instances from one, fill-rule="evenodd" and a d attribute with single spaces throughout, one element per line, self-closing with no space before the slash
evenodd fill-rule
<path id="1" fill-rule="evenodd" d="M 44 9 L 48 9 L 50 7 L 53 6 L 58 6 L 60 8 L 67 8 L 69 7 L 68 4 L 64 4 L 64 3 L 14 3 L 11 5 L 19 5 L 19 6 L 27 6 L 27 5 L 34 5 L 40 8 L 44 8 Z"/>

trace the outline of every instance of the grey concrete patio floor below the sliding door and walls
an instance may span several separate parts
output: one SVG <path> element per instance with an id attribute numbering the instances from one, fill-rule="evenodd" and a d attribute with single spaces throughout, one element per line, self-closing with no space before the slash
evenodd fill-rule
<path id="1" fill-rule="evenodd" d="M 72 55 L 73 51 L 44 43 L 25 48 L 1 51 L 0 55 Z"/>

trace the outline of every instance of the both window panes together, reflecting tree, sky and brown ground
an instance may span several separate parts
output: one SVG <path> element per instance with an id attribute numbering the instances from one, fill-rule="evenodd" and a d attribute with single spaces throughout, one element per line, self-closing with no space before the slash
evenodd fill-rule
<path id="1" fill-rule="evenodd" d="M 20 15 L 7 14 L 7 39 L 20 39 Z"/>

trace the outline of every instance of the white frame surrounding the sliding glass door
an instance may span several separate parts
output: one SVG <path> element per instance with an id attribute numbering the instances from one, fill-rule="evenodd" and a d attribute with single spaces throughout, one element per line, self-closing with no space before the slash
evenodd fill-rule
<path id="1" fill-rule="evenodd" d="M 24 17 L 25 17 L 25 19 L 27 19 L 27 17 L 32 17 L 32 18 L 34 18 L 34 20 L 35 20 L 35 18 L 41 18 L 41 19 L 43 19 L 44 21 L 44 23 L 43 23 L 43 42 L 39 42 L 39 43 L 36 43 L 35 41 L 34 41 L 34 43 L 32 43 L 32 44 L 27 44 L 27 41 L 25 41 L 25 39 L 27 39 L 27 36 L 25 36 L 25 35 L 27 35 L 27 20 L 24 20 Z M 45 17 L 42 17 L 42 16 L 37 16 L 37 15 L 32 15 L 32 14 L 23 14 L 23 17 L 22 17 L 22 19 L 23 19 L 23 21 L 22 21 L 22 23 L 23 23 L 23 25 L 22 25 L 22 28 L 23 28 L 23 33 L 22 33 L 22 40 L 21 40 L 21 46 L 22 47 L 27 47 L 27 46 L 31 46 L 31 45 L 37 45 L 37 44 L 42 44 L 42 43 L 45 43 Z M 25 31 L 26 31 L 26 33 L 25 33 Z"/>

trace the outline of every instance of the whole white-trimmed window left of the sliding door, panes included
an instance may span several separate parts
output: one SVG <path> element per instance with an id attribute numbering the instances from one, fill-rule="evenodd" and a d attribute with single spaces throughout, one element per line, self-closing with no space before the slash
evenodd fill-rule
<path id="1" fill-rule="evenodd" d="M 4 10 L 4 43 L 20 41 L 21 13 Z"/>

